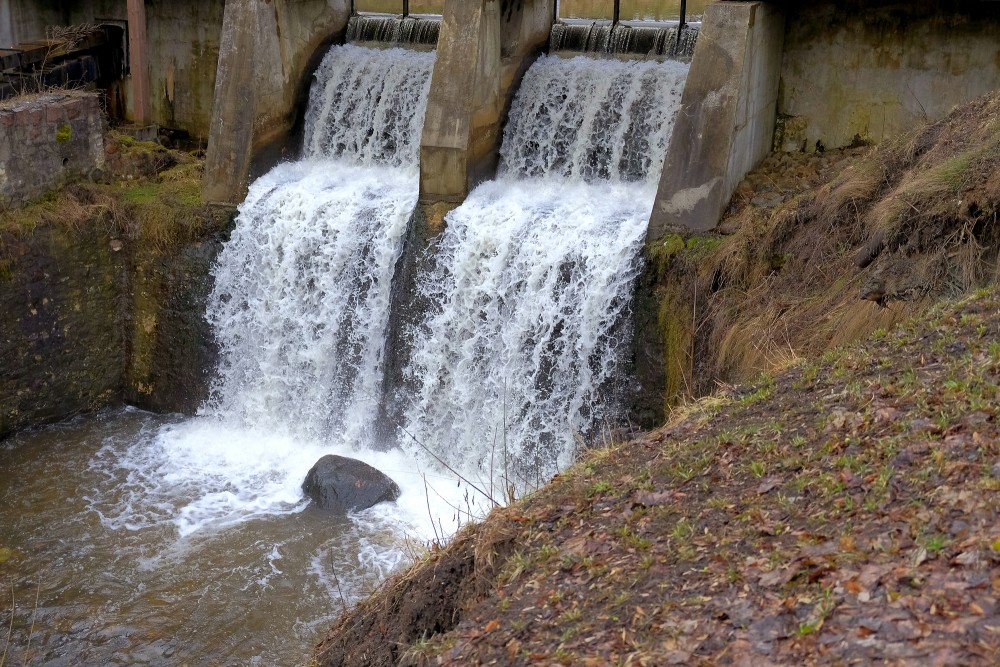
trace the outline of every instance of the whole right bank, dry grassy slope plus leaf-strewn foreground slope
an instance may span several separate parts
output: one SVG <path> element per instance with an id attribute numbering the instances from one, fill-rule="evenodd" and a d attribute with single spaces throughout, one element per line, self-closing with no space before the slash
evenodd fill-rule
<path id="1" fill-rule="evenodd" d="M 998 109 L 848 155 L 818 188 L 761 198 L 759 172 L 732 236 L 667 239 L 673 294 L 707 295 L 700 338 L 661 311 L 673 352 L 785 370 L 467 527 L 318 663 L 996 664 L 1000 294 L 890 325 L 992 278 Z"/>

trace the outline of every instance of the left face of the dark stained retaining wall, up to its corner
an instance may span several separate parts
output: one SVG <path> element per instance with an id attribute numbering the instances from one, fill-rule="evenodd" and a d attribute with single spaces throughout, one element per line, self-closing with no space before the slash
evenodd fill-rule
<path id="1" fill-rule="evenodd" d="M 121 396 L 125 265 L 97 226 L 0 233 L 0 438 Z"/>

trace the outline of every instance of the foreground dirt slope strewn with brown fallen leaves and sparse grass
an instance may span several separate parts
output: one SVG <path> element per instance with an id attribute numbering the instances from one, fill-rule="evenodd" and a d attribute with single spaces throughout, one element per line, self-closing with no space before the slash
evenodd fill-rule
<path id="1" fill-rule="evenodd" d="M 982 290 L 595 452 L 388 582 L 319 664 L 995 665 L 998 399 Z"/>

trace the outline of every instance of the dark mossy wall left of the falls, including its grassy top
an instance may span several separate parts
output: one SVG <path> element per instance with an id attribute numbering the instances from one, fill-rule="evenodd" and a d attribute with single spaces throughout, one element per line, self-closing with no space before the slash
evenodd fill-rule
<path id="1" fill-rule="evenodd" d="M 100 182 L 0 211 L 0 438 L 206 394 L 204 302 L 232 213 L 202 204 L 198 157 L 114 134 L 107 152 Z"/>

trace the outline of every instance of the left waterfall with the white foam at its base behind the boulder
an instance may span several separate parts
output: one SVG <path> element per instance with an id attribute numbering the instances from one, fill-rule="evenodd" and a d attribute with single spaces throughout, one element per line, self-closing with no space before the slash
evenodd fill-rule
<path id="1" fill-rule="evenodd" d="M 119 462 L 136 497 L 163 501 L 143 516 L 106 512 L 110 523 L 170 520 L 188 535 L 298 511 L 306 471 L 328 453 L 389 474 L 412 467 L 371 451 L 372 426 L 433 62 L 355 46 L 323 60 L 305 157 L 250 187 L 214 269 L 211 398 L 198 419 L 164 427 Z"/>

